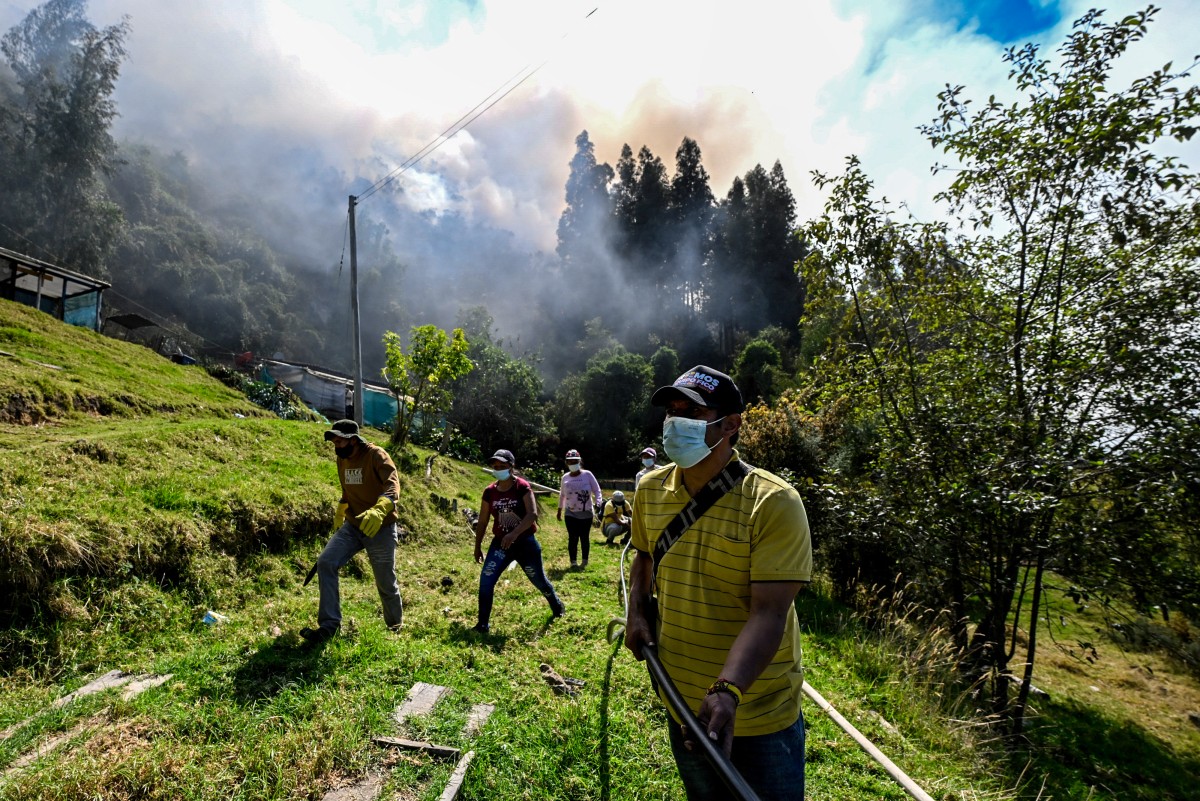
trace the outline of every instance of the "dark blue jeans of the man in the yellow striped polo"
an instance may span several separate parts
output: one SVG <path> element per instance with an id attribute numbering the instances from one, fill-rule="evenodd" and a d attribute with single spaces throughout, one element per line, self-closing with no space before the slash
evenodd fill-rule
<path id="1" fill-rule="evenodd" d="M 688 801 L 725 801 L 730 791 L 720 775 L 704 759 L 697 747 L 688 751 L 678 723 L 667 721 L 671 729 L 671 753 L 679 767 L 679 778 L 688 790 Z M 733 737 L 733 766 L 754 788 L 762 801 L 793 801 L 804 799 L 804 716 L 774 734 Z"/>

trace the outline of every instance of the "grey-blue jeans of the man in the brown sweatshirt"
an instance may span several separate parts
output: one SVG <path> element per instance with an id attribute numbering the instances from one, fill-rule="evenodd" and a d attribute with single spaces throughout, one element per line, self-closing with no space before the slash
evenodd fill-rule
<path id="1" fill-rule="evenodd" d="M 337 631 L 342 625 L 342 597 L 337 572 L 362 549 L 366 549 L 371 571 L 374 573 L 376 589 L 383 603 L 383 621 L 388 628 L 394 628 L 400 626 L 404 616 L 400 584 L 396 583 L 396 524 L 385 525 L 377 535 L 367 537 L 353 523 L 347 522 L 334 532 L 317 558 L 317 576 L 320 578 L 317 624 L 324 630 Z"/>

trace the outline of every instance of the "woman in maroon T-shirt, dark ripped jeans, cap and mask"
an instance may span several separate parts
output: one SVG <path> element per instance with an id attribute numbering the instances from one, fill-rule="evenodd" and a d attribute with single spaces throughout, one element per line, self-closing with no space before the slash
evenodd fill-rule
<path id="1" fill-rule="evenodd" d="M 512 475 L 516 466 L 512 451 L 497 451 L 490 464 L 496 481 L 484 490 L 479 520 L 475 523 L 475 561 L 484 564 L 479 573 L 479 622 L 472 630 L 478 634 L 491 631 L 496 583 L 514 561 L 521 565 L 529 582 L 550 603 L 551 614 L 562 618 L 564 612 L 563 602 L 546 578 L 541 544 L 534 536 L 538 531 L 538 501 L 533 496 L 533 487 L 524 478 Z M 487 547 L 485 559 L 484 534 L 488 522 L 492 524 L 492 543 Z"/>

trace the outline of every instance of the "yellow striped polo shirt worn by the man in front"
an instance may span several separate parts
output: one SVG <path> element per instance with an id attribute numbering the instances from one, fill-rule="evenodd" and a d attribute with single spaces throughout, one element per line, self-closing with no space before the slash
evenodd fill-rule
<path id="1" fill-rule="evenodd" d="M 674 464 L 642 476 L 634 496 L 634 547 L 653 554 L 662 529 L 690 499 Z M 720 677 L 730 648 L 750 616 L 750 583 L 809 582 L 811 577 L 812 543 L 804 502 L 794 488 L 766 470 L 751 470 L 684 531 L 659 565 L 655 639 L 662 667 L 694 712 L 708 686 Z M 794 723 L 803 681 L 793 606 L 775 658 L 738 706 L 737 736 L 772 734 Z"/>

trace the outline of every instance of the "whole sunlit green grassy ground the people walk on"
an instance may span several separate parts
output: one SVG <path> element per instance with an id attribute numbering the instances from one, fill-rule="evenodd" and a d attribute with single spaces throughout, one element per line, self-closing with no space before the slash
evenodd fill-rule
<path id="1" fill-rule="evenodd" d="M 316 619 L 302 580 L 337 496 L 323 424 L 265 416 L 197 367 L 2 301 L 0 351 L 0 597 L 13 600 L 0 610 L 0 799 L 320 799 L 371 777 L 379 797 L 437 799 L 452 763 L 377 735 L 475 749 L 467 800 L 683 797 L 646 670 L 605 639 L 620 554 L 594 543 L 588 570 L 570 571 L 548 501 L 539 540 L 564 619 L 512 571 L 493 634 L 469 634 L 473 537 L 445 506 L 478 507 L 487 477 L 438 457 L 428 477 L 402 477 L 403 631 L 384 628 L 360 556 L 343 571 L 343 633 L 312 649 L 296 636 Z M 205 625 L 206 610 L 226 620 Z M 1196 739 L 1106 692 L 1120 670 L 1075 666 L 1104 693 L 1055 680 L 1030 759 L 952 700 L 936 632 L 901 615 L 868 632 L 820 588 L 800 615 L 810 682 L 936 799 L 1184 799 L 1195 787 Z M 586 681 L 581 694 L 556 694 L 544 662 Z M 1194 682 L 1168 661 L 1139 663 L 1157 676 L 1148 693 L 1169 677 L 1171 701 L 1193 703 Z M 53 705 L 113 669 L 170 679 Z M 451 693 L 397 727 L 416 681 Z M 467 737 L 485 701 L 496 712 Z M 906 797 L 820 710 L 805 713 L 808 797 Z"/>

